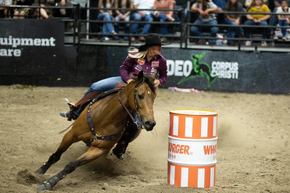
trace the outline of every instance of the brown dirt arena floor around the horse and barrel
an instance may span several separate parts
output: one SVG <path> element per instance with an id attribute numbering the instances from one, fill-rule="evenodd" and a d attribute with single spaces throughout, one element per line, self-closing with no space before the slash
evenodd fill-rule
<path id="1" fill-rule="evenodd" d="M 0 192 L 32 193 L 70 161 L 83 154 L 73 144 L 42 176 L 34 171 L 46 162 L 71 122 L 58 115 L 68 110 L 64 98 L 79 100 L 86 87 L 0 86 Z M 171 109 L 218 112 L 216 185 L 213 188 L 167 184 L 168 118 Z M 111 155 L 80 166 L 61 180 L 55 193 L 115 192 L 290 192 L 290 96 L 246 93 L 181 93 L 159 89 L 155 129 L 142 131 L 126 160 Z M 224 185 L 237 185 L 221 188 Z M 104 189 L 102 189 L 104 188 Z M 48 193 L 51 191 L 43 191 Z"/>

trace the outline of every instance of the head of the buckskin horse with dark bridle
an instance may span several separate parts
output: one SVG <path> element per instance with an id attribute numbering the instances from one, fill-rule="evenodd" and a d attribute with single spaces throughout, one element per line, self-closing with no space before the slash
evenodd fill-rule
<path id="1" fill-rule="evenodd" d="M 140 127 L 145 128 L 147 131 L 151 131 L 156 125 L 153 113 L 153 103 L 157 90 L 154 83 L 157 74 L 158 73 L 149 76 L 144 75 L 143 71 L 140 71 L 138 77 L 134 78 L 135 81 L 131 81 L 131 84 L 135 83 L 134 101 L 129 103 L 131 104 L 131 108 L 135 109 L 137 112 L 137 117 L 140 120 Z"/>

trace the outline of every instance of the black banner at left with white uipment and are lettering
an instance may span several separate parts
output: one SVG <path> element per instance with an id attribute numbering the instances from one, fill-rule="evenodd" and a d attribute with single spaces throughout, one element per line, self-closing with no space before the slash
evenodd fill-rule
<path id="1" fill-rule="evenodd" d="M 65 63 L 62 21 L 7 19 L 0 26 L 0 84 L 60 80 Z"/>

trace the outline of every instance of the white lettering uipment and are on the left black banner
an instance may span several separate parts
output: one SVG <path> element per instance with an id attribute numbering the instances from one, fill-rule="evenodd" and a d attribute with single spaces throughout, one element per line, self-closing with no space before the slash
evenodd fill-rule
<path id="1" fill-rule="evenodd" d="M 55 38 L 19 38 L 19 37 L 0 37 L 0 46 L 55 46 Z M 0 49 L 0 56 L 21 56 L 21 49 Z"/>

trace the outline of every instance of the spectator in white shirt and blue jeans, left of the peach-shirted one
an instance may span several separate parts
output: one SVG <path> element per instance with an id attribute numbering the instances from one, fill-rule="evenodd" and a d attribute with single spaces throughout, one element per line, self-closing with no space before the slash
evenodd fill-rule
<path id="1" fill-rule="evenodd" d="M 154 0 L 134 0 L 133 5 L 135 9 L 152 9 Z M 133 14 L 133 21 L 153 21 L 150 11 L 140 10 Z M 132 24 L 132 33 L 137 33 L 139 24 Z M 147 34 L 150 30 L 151 24 L 144 24 L 141 34 Z M 131 41 L 135 41 L 135 37 L 131 37 Z M 144 42 L 145 37 L 140 36 L 139 41 Z"/>

